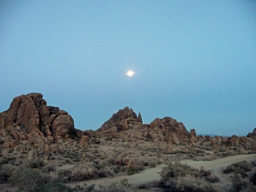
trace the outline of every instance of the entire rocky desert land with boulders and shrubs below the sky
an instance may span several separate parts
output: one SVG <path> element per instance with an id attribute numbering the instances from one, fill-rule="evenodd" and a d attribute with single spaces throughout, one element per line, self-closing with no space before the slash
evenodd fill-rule
<path id="1" fill-rule="evenodd" d="M 24 121 L 17 108 L 26 107 L 30 114 Z M 66 111 L 47 106 L 37 93 L 16 97 L 0 119 L 0 192 L 255 189 L 256 129 L 247 137 L 196 136 L 171 117 L 143 124 L 141 115 L 126 107 L 97 131 L 83 132 L 74 129 Z M 223 170 L 193 165 L 236 155 L 254 161 L 236 161 Z"/>

